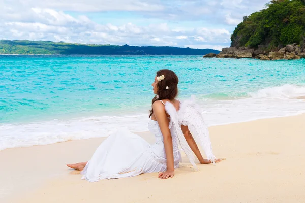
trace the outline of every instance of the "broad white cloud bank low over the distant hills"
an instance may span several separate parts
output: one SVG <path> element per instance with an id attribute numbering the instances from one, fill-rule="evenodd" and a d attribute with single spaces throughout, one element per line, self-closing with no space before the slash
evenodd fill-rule
<path id="1" fill-rule="evenodd" d="M 129 44 L 180 46 L 205 42 L 228 42 L 230 33 L 225 29 L 171 29 L 167 23 L 137 26 L 127 23 L 121 26 L 98 24 L 86 16 L 77 18 L 52 9 L 29 10 L 36 22 L 4 22 L 5 32 L 0 38 L 52 40 L 93 44 Z"/>

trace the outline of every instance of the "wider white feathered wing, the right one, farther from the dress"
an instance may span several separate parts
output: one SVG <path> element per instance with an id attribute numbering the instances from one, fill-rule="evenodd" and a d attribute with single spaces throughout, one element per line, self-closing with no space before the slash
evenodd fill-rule
<path id="1" fill-rule="evenodd" d="M 179 124 L 187 125 L 194 139 L 200 142 L 207 159 L 214 163 L 216 158 L 212 151 L 208 128 L 202 117 L 200 107 L 195 102 L 195 96 L 181 103 L 178 118 Z"/>

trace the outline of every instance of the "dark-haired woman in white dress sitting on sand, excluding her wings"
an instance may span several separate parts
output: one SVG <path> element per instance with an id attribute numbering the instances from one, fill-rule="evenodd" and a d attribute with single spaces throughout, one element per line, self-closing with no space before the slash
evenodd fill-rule
<path id="1" fill-rule="evenodd" d="M 178 77 L 171 70 L 160 70 L 151 85 L 156 96 L 151 105 L 148 128 L 155 134 L 154 145 L 149 145 L 127 129 L 121 129 L 109 136 L 88 162 L 67 164 L 67 166 L 82 171 L 83 179 L 91 182 L 152 172 L 160 172 L 158 176 L 160 179 L 173 177 L 174 170 L 179 167 L 181 160 L 178 149 L 180 139 L 177 130 L 170 124 L 171 119 L 165 104 L 170 103 L 176 111 L 180 108 L 180 102 L 175 99 L 178 95 Z M 188 147 L 200 163 L 211 163 L 211 160 L 202 157 L 188 126 L 181 125 L 181 130 Z M 219 161 L 220 159 L 215 160 L 215 162 Z"/>

